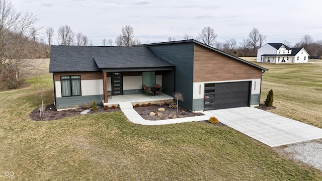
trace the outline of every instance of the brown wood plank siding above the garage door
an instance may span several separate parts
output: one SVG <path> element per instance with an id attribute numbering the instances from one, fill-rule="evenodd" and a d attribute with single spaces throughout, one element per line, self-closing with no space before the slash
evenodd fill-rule
<path id="1" fill-rule="evenodd" d="M 259 68 L 195 44 L 194 82 L 261 78 Z"/>

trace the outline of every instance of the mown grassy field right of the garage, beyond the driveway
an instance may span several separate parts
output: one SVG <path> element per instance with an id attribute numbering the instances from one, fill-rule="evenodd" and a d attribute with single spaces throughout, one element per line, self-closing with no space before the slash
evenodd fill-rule
<path id="1" fill-rule="evenodd" d="M 322 128 L 322 63 L 257 63 L 256 57 L 241 57 L 263 66 L 261 100 L 274 91 L 272 113 Z M 319 60 L 312 60 L 318 62 Z"/>

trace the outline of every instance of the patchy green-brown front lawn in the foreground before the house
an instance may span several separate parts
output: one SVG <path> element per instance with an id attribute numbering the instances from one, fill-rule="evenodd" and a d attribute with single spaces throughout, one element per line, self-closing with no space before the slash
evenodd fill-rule
<path id="1" fill-rule="evenodd" d="M 122 112 L 35 122 L 29 114 L 40 105 L 39 87 L 46 87 L 45 102 L 53 102 L 52 76 L 45 69 L 29 83 L 0 92 L 0 180 L 322 179 L 317 169 L 229 127 L 204 122 L 143 126 Z M 15 175 L 5 176 L 6 171 Z"/>

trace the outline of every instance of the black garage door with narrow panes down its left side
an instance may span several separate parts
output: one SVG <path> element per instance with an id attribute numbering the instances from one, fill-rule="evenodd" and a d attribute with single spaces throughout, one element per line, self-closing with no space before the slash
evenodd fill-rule
<path id="1" fill-rule="evenodd" d="M 205 110 L 250 105 L 250 81 L 205 84 Z"/>

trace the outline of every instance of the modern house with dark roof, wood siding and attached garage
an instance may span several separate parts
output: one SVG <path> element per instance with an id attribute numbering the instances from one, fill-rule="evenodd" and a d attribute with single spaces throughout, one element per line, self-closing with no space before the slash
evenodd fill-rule
<path id="1" fill-rule="evenodd" d="M 260 104 L 262 73 L 267 69 L 196 40 L 134 47 L 52 46 L 56 109 L 108 94 L 142 94 L 142 84 L 183 94 L 181 106 L 201 112 Z"/>

